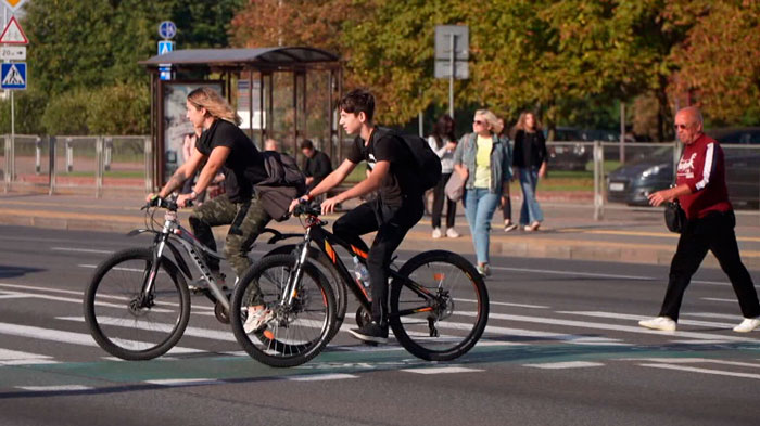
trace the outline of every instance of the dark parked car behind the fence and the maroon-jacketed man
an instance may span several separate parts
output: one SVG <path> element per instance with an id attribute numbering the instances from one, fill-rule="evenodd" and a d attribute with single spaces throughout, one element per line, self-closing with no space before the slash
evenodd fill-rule
<path id="1" fill-rule="evenodd" d="M 721 144 L 760 145 L 760 127 L 707 131 Z M 725 152 L 725 180 L 729 196 L 736 207 L 758 207 L 760 201 L 760 150 Z M 674 181 L 672 146 L 653 151 L 611 171 L 607 177 L 607 201 L 629 205 L 648 205 L 647 196 L 669 188 Z"/>

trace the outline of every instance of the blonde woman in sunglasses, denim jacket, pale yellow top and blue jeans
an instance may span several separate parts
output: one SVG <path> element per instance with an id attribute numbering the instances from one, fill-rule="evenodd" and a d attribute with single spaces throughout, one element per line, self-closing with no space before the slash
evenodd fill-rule
<path id="1" fill-rule="evenodd" d="M 511 180 L 509 140 L 499 138 L 496 116 L 487 109 L 476 112 L 472 133 L 459 140 L 454 152 L 454 170 L 465 179 L 465 216 L 478 258 L 478 272 L 491 275 L 489 246 L 491 220 Z"/>

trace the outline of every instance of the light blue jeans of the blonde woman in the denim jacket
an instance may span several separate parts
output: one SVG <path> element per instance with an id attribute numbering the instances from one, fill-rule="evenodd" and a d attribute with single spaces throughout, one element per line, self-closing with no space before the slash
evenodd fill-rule
<path id="1" fill-rule="evenodd" d="M 467 190 L 465 194 L 465 216 L 470 224 L 470 234 L 474 243 L 478 263 L 489 262 L 489 244 L 491 243 L 491 219 L 498 206 L 499 194 L 487 189 Z"/>

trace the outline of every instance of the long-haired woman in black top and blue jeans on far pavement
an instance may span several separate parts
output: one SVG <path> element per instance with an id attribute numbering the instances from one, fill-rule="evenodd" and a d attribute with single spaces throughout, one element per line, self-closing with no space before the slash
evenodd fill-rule
<path id="1" fill-rule="evenodd" d="M 525 112 L 515 126 L 515 159 L 512 165 L 520 177 L 522 208 L 520 225 L 525 231 L 537 231 L 544 221 L 544 212 L 535 198 L 539 179 L 546 176 L 546 139 L 535 114 Z"/>

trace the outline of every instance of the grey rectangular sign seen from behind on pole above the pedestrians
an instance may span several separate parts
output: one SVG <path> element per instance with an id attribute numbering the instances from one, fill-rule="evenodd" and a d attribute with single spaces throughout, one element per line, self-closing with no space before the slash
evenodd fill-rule
<path id="1" fill-rule="evenodd" d="M 469 78 L 470 31 L 467 25 L 435 26 L 435 78 L 448 78 L 448 115 L 454 118 L 454 79 Z"/>

